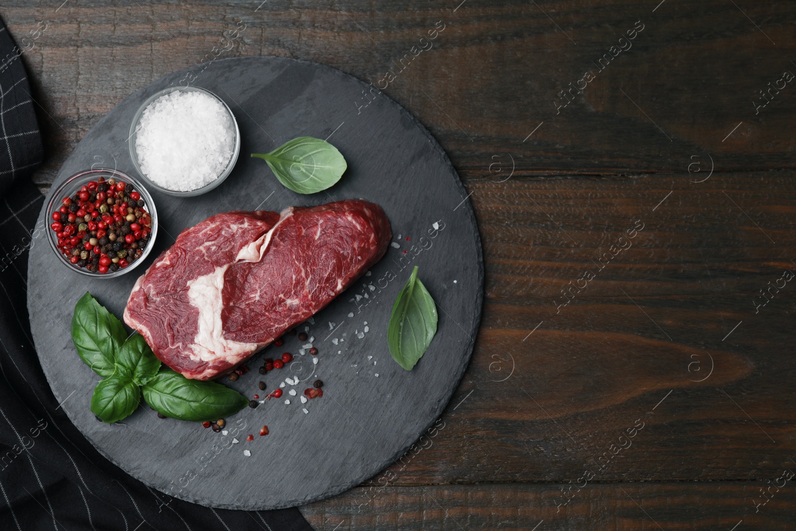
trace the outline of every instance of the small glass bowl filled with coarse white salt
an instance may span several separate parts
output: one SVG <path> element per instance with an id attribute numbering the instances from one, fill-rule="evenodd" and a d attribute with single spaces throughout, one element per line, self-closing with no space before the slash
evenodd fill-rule
<path id="1" fill-rule="evenodd" d="M 130 158 L 162 193 L 201 195 L 232 172 L 240 130 L 224 100 L 199 87 L 169 87 L 142 103 L 130 125 Z"/>

